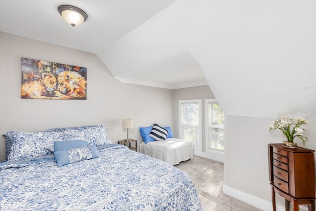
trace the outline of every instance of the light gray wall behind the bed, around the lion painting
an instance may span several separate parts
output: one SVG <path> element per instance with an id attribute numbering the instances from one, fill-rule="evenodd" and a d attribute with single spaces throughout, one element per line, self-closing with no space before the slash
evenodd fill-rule
<path id="1" fill-rule="evenodd" d="M 107 124 L 112 142 L 126 139 L 122 118 L 133 118 L 129 138 L 142 141 L 139 127 L 173 126 L 172 90 L 121 83 L 100 59 L 67 47 L 0 32 L 0 134 L 54 127 Z M 87 68 L 87 100 L 21 99 L 21 57 Z M 0 159 L 5 143 L 0 137 Z"/>

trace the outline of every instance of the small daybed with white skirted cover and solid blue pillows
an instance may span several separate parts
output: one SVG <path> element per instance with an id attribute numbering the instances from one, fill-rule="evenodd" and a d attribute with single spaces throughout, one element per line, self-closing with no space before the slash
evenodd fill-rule
<path id="1" fill-rule="evenodd" d="M 166 138 L 157 141 L 151 135 L 153 127 L 141 127 L 140 133 L 144 141 L 139 145 L 139 152 L 172 166 L 193 158 L 193 143 L 174 138 L 170 127 L 164 129 L 167 130 Z"/>

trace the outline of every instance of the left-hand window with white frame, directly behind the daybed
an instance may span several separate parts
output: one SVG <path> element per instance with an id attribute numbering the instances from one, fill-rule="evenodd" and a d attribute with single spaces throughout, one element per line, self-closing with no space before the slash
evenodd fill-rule
<path id="1" fill-rule="evenodd" d="M 202 150 L 201 100 L 179 100 L 179 136 Z"/>

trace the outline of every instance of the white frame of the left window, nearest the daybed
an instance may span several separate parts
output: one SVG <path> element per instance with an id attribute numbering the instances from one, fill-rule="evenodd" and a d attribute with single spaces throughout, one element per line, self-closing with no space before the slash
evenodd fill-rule
<path id="1" fill-rule="evenodd" d="M 197 103 L 198 105 L 198 128 L 197 128 L 197 132 L 198 132 L 198 145 L 194 145 L 194 150 L 201 152 L 202 151 L 202 100 L 201 99 L 196 99 L 196 100 L 179 100 L 179 106 L 178 106 L 178 110 L 179 110 L 179 139 L 184 139 L 184 134 L 183 134 L 183 130 L 182 130 L 182 119 L 181 119 L 181 104 L 186 104 L 186 103 Z"/>

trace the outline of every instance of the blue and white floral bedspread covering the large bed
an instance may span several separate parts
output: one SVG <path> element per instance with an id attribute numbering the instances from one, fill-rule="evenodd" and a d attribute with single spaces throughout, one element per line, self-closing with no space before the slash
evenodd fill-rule
<path id="1" fill-rule="evenodd" d="M 0 165 L 1 211 L 201 211 L 190 177 L 118 144 L 57 167 L 53 155 Z"/>

